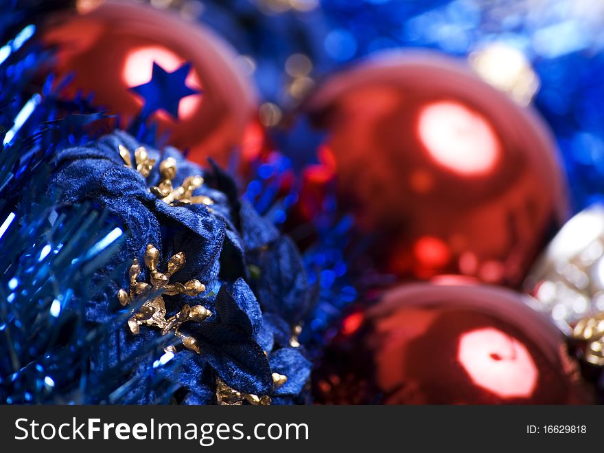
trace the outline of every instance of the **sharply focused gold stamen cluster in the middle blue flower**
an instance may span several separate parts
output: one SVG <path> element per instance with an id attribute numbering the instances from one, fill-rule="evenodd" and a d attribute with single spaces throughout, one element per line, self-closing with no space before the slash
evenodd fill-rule
<path id="1" fill-rule="evenodd" d="M 166 335 L 173 332 L 183 342 L 185 348 L 200 353 L 200 345 L 195 338 L 185 335 L 178 331 L 181 324 L 187 321 L 204 321 L 212 313 L 203 305 L 191 307 L 185 304 L 176 315 L 166 318 L 165 301 L 163 294 L 174 296 L 176 294 L 187 294 L 187 296 L 197 296 L 205 291 L 205 285 L 199 280 L 189 280 L 186 283 L 170 283 L 173 274 L 185 266 L 185 254 L 177 253 L 167 261 L 167 270 L 165 273 L 159 272 L 159 250 L 153 244 L 147 245 L 145 252 L 145 265 L 150 271 L 150 283 L 139 281 L 141 274 L 141 265 L 137 259 L 132 261 L 130 266 L 130 290 L 120 289 L 117 291 L 117 300 L 124 307 L 130 305 L 132 300 L 150 296 L 142 307 L 132 315 L 128 320 L 128 327 L 135 335 L 140 332 L 140 326 L 150 326 L 161 329 L 161 334 Z M 157 296 L 152 296 L 159 294 Z"/>

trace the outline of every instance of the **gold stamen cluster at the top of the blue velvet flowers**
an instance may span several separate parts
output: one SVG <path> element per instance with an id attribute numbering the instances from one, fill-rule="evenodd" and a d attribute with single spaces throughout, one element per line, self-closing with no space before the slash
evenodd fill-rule
<path id="1" fill-rule="evenodd" d="M 123 145 L 118 147 L 119 155 L 124 160 L 124 164 L 128 168 L 136 168 L 143 177 L 148 177 L 152 168 L 155 166 L 155 159 L 149 157 L 146 148 L 139 146 L 135 149 L 135 162 L 132 163 L 132 157 L 128 148 Z M 135 167 L 136 166 L 136 167 Z M 170 206 L 178 206 L 183 204 L 203 204 L 211 206 L 214 201 L 205 195 L 193 195 L 193 192 L 200 188 L 203 184 L 203 177 L 200 175 L 187 176 L 183 184 L 178 187 L 172 185 L 172 180 L 176 177 L 176 159 L 167 157 L 167 159 L 159 163 L 159 175 L 161 181 L 157 186 L 151 187 L 150 192 L 165 201 Z"/>

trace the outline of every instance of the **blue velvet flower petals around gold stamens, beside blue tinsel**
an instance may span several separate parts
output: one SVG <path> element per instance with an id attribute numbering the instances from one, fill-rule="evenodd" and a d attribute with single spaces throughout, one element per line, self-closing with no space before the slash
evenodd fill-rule
<path id="1" fill-rule="evenodd" d="M 203 305 L 213 314 L 180 328 L 196 339 L 200 353 L 178 347 L 174 360 L 179 366 L 169 378 L 181 386 L 175 394 L 177 401 L 215 402 L 217 378 L 242 393 L 269 395 L 277 404 L 303 401 L 310 362 L 301 348 L 290 344 L 295 344 L 295 328 L 311 308 L 312 291 L 292 242 L 240 200 L 233 179 L 215 164 L 204 171 L 174 148 L 158 151 L 145 146 L 158 163 L 167 157 L 175 159 L 175 187 L 186 177 L 202 175 L 205 184 L 194 195 L 213 201 L 211 206 L 171 206 L 149 190 L 160 182 L 159 164 L 143 177 L 124 164 L 120 145 L 132 157 L 141 146 L 130 135 L 116 131 L 86 146 L 67 148 L 56 156 L 51 178 L 49 190 L 60 193 L 61 203 L 98 203 L 130 232 L 117 259 L 97 276 L 106 284 L 103 293 L 88 302 L 87 318 L 106 322 L 121 309 L 116 294 L 127 285 L 126 268 L 133 258 L 142 261 L 149 243 L 161 251 L 160 263 L 183 252 L 186 264 L 176 274 L 178 281 L 196 278 L 207 290 L 198 296 L 164 296 L 167 312 L 174 315 L 189 304 Z M 120 278 L 109 278 L 116 272 Z M 148 272 L 143 269 L 141 275 L 147 278 Z M 127 360 L 141 344 L 161 340 L 159 330 L 144 326 L 139 335 L 125 328 L 116 331 L 114 347 L 93 366 Z M 157 358 L 137 357 L 138 373 L 148 373 Z M 273 386 L 272 373 L 286 376 L 285 384 Z M 139 403 L 154 401 L 150 393 L 132 397 Z"/>

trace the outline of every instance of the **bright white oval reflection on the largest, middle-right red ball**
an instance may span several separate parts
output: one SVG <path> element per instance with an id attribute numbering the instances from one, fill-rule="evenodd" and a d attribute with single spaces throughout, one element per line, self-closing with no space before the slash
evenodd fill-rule
<path id="1" fill-rule="evenodd" d="M 489 173 L 501 154 L 485 117 L 459 102 L 443 100 L 423 107 L 417 133 L 435 162 L 461 175 Z"/>

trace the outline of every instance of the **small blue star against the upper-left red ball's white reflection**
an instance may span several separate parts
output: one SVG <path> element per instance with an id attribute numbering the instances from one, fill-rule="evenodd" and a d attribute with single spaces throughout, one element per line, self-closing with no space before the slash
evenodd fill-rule
<path id="1" fill-rule="evenodd" d="M 201 91 L 187 87 L 185 79 L 191 69 L 190 63 L 185 63 L 173 72 L 168 72 L 163 67 L 153 62 L 151 80 L 143 85 L 130 88 L 144 99 L 141 115 L 150 115 L 159 109 L 170 113 L 178 120 L 178 104 L 182 98 Z"/>

